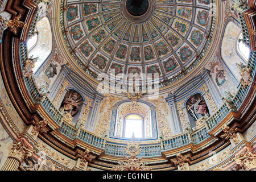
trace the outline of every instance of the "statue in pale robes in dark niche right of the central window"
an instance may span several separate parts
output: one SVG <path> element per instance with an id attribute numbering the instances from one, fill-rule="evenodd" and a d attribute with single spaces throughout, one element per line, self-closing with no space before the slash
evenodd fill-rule
<path id="1" fill-rule="evenodd" d="M 201 94 L 191 96 L 187 101 L 186 107 L 194 121 L 197 121 L 202 117 L 209 116 L 207 104 Z"/>

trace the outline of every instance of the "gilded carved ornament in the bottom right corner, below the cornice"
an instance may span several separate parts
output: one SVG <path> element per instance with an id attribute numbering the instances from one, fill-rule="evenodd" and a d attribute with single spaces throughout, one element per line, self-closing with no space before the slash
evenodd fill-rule
<path id="1" fill-rule="evenodd" d="M 251 152 L 249 148 L 246 148 L 245 151 L 233 159 L 234 170 L 240 171 L 241 169 L 248 171 L 256 166 L 256 154 Z"/>

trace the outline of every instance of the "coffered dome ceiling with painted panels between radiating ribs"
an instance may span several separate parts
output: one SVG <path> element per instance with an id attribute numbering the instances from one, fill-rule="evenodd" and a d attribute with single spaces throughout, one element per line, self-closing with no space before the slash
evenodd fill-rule
<path id="1" fill-rule="evenodd" d="M 209 0 L 68 0 L 66 44 L 97 74 L 158 72 L 163 81 L 204 49 L 209 11 Z"/>

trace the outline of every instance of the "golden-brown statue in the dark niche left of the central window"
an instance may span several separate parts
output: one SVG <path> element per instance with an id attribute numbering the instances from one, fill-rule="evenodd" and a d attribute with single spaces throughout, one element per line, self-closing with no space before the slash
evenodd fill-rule
<path id="1" fill-rule="evenodd" d="M 68 114 L 74 117 L 79 111 L 79 106 L 82 104 L 83 100 L 79 93 L 75 90 L 69 90 L 65 95 L 63 102 L 60 106 L 60 111 L 63 114 Z"/>

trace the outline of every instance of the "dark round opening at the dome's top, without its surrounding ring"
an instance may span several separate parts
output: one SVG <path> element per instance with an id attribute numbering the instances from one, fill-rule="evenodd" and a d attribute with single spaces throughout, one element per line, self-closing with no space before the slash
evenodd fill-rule
<path id="1" fill-rule="evenodd" d="M 148 10 L 148 0 L 127 0 L 126 8 L 133 16 L 141 16 Z"/>

